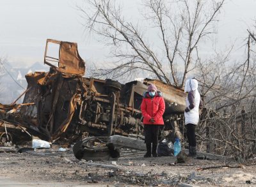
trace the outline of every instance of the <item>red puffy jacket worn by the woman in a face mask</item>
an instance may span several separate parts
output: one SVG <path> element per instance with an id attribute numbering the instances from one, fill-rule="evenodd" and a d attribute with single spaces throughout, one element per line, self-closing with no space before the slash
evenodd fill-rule
<path id="1" fill-rule="evenodd" d="M 162 93 L 157 91 L 154 98 L 151 98 L 148 92 L 144 93 L 141 103 L 141 113 L 143 116 L 143 124 L 158 124 L 163 125 L 163 114 L 165 110 L 164 98 Z M 155 122 L 150 122 L 154 118 Z"/>

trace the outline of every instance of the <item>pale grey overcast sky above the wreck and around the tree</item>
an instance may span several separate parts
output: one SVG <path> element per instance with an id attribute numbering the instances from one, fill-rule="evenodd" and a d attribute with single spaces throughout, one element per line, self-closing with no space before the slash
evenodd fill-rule
<path id="1" fill-rule="evenodd" d="M 138 2 L 129 1 L 127 10 L 136 8 Z M 17 66 L 43 62 L 45 41 L 52 38 L 77 42 L 85 60 L 104 61 L 106 47 L 84 32 L 83 20 L 76 10 L 82 3 L 83 0 L 0 0 L 0 57 Z M 236 40 L 236 47 L 241 47 L 248 36 L 246 29 L 253 28 L 255 7 L 255 0 L 227 1 L 218 24 L 218 46 L 225 48 Z"/>

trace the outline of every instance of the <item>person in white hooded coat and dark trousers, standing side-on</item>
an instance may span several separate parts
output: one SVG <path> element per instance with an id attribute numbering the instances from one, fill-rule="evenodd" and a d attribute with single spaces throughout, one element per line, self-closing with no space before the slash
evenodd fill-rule
<path id="1" fill-rule="evenodd" d="M 184 92 L 188 93 L 188 95 L 184 116 L 189 143 L 189 156 L 196 156 L 195 128 L 199 121 L 199 109 L 202 108 L 202 101 L 200 100 L 200 93 L 197 88 L 198 82 L 196 79 L 186 80 Z"/>

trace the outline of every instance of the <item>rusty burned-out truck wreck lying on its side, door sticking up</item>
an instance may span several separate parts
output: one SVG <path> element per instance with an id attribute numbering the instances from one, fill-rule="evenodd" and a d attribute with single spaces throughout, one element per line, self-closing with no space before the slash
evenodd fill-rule
<path id="1" fill-rule="evenodd" d="M 49 56 L 50 43 L 58 57 Z M 124 135 L 143 137 L 140 105 L 148 84 L 163 92 L 166 110 L 161 135 L 173 138 L 183 128 L 184 91 L 159 80 L 120 84 L 115 80 L 83 77 L 85 65 L 77 43 L 47 40 L 44 63 L 49 72 L 26 75 L 28 88 L 19 110 L 4 120 L 19 124 L 45 140 Z M 11 116 L 11 117 L 10 117 Z"/>

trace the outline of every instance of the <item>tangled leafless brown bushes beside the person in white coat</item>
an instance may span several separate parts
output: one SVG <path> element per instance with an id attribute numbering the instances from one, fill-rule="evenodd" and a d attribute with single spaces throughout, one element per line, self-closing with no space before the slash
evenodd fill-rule
<path id="1" fill-rule="evenodd" d="M 247 57 L 242 63 L 227 65 L 229 52 L 211 63 L 198 63 L 198 79 L 207 105 L 197 128 L 202 149 L 239 160 L 256 153 L 255 41 L 249 32 Z"/>

